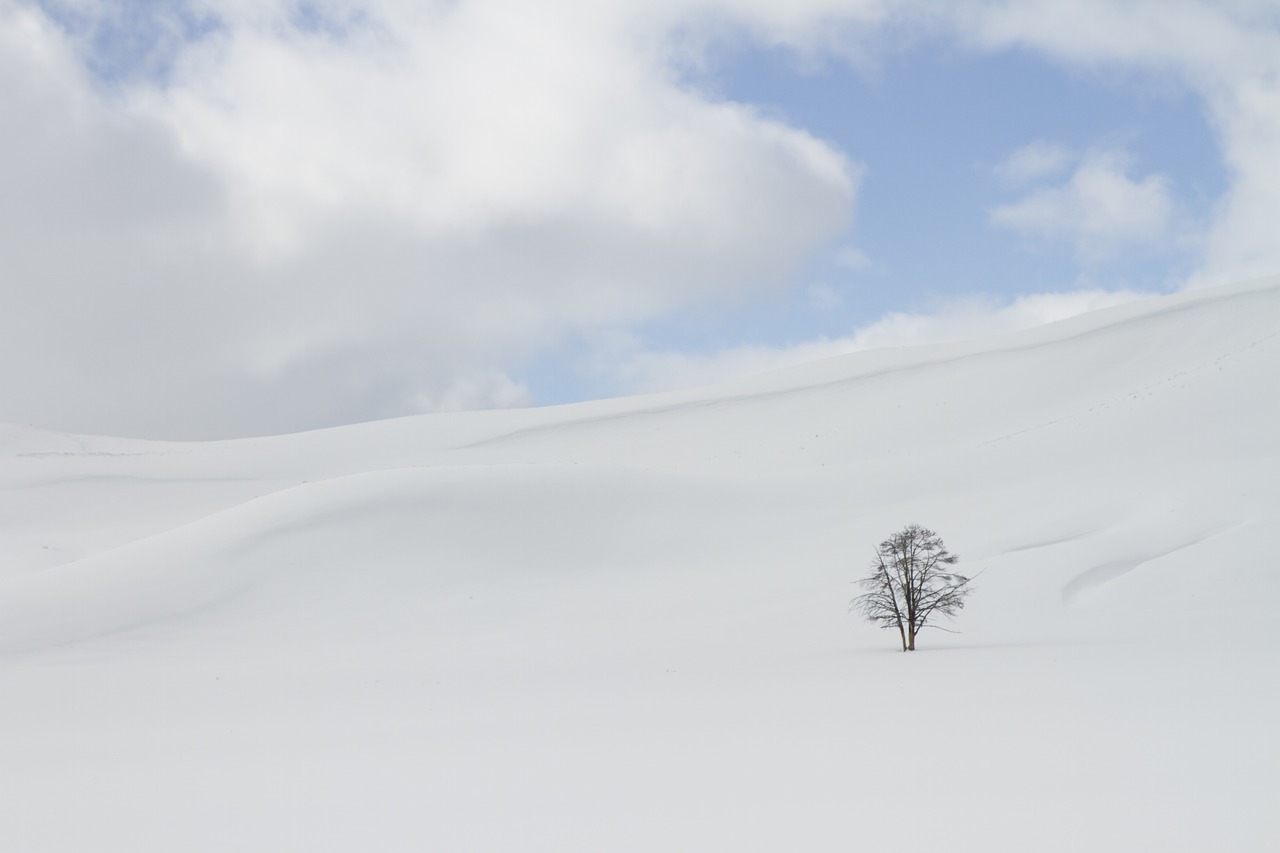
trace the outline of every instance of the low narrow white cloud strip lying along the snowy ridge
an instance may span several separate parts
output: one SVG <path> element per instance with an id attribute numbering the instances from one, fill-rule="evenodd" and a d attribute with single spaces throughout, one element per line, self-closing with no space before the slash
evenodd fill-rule
<path id="1" fill-rule="evenodd" d="M 618 380 L 637 393 L 690 388 L 864 350 L 1006 334 L 1148 296 L 1132 291 L 1075 291 L 1020 296 L 1007 304 L 969 297 L 933 313 L 892 313 L 840 338 L 788 346 L 740 346 L 705 355 L 636 347 L 621 360 Z"/>

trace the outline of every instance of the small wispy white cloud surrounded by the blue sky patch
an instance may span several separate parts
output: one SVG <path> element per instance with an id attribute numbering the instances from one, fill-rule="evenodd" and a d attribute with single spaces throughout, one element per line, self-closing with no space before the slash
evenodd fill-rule
<path id="1" fill-rule="evenodd" d="M 1152 243 L 1169 231 L 1169 179 L 1130 178 L 1116 151 L 1088 155 L 1061 186 L 1034 190 L 991 211 L 991 222 L 1024 234 L 1068 240 L 1092 259 L 1133 243 Z"/>

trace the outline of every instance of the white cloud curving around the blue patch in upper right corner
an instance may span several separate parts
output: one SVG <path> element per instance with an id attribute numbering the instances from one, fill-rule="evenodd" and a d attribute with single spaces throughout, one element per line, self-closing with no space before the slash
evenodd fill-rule
<path id="1" fill-rule="evenodd" d="M 961 38 L 1075 67 L 1158 73 L 1197 92 L 1229 170 L 1192 284 L 1280 270 L 1280 6 L 1266 0 L 1056 0 L 956 6 Z"/>

